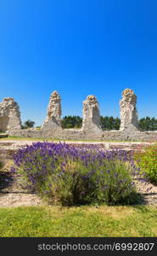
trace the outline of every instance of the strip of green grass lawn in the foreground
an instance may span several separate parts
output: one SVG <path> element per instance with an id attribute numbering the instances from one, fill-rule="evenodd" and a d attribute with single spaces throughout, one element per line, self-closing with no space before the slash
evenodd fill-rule
<path id="1" fill-rule="evenodd" d="M 156 236 L 157 207 L 10 207 L 0 209 L 1 237 Z"/>

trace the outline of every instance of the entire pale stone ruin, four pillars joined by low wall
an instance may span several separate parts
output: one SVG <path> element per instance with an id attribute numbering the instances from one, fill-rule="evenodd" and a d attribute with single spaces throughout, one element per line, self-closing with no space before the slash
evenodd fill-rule
<path id="1" fill-rule="evenodd" d="M 157 140 L 157 131 L 140 131 L 137 119 L 137 96 L 131 89 L 123 90 L 120 101 L 120 130 L 102 131 L 98 100 L 87 96 L 83 102 L 81 129 L 61 128 L 61 99 L 55 90 L 50 96 L 48 113 L 42 128 L 21 130 L 20 110 L 13 98 L 5 98 L 0 103 L 0 131 L 18 137 L 52 137 L 59 140 Z"/>

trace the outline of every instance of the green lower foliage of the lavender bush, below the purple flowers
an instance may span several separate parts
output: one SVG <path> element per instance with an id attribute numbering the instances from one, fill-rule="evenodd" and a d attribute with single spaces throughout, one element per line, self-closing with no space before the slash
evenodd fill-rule
<path id="1" fill-rule="evenodd" d="M 63 206 L 91 203 L 116 205 L 136 201 L 132 177 L 125 164 L 108 162 L 93 175 L 93 166 L 87 168 L 79 162 L 70 161 L 64 169 L 64 175 L 60 176 L 59 167 L 58 172 L 50 175 L 46 183 L 38 184 L 38 191 L 42 195 L 47 191 L 50 200 L 57 199 Z"/>

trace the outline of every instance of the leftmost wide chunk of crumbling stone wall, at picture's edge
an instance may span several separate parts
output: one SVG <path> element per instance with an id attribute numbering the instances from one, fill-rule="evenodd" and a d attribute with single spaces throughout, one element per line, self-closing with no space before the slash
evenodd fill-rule
<path id="1" fill-rule="evenodd" d="M 7 97 L 0 102 L 0 131 L 21 129 L 20 108 L 14 98 Z"/>

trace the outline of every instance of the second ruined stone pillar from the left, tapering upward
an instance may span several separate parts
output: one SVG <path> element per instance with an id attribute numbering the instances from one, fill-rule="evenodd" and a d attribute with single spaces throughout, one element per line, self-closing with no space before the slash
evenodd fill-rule
<path id="1" fill-rule="evenodd" d="M 61 126 L 61 99 L 57 90 L 54 90 L 50 96 L 48 103 L 48 114 L 44 121 L 44 125 L 47 125 L 49 122 Z M 44 126 L 43 125 L 43 126 Z"/>

